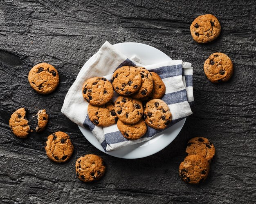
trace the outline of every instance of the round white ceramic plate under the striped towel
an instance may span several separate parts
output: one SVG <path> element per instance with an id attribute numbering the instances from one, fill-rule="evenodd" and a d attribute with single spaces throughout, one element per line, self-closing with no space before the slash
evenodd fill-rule
<path id="1" fill-rule="evenodd" d="M 143 60 L 145 65 L 171 60 L 171 58 L 169 58 L 162 51 L 146 44 L 136 42 L 124 42 L 114 44 L 114 46 L 128 58 L 131 58 L 132 56 L 136 55 L 138 58 Z M 101 144 L 99 144 L 98 140 L 96 139 L 96 137 L 94 137 L 94 135 L 89 129 L 85 129 L 81 126 L 79 126 L 79 129 L 81 130 L 85 138 L 100 151 L 103 151 L 106 154 L 114 157 L 124 159 L 137 159 L 153 155 L 164 149 L 166 146 L 168 146 L 168 144 L 170 144 L 175 139 L 175 137 L 177 137 L 177 135 L 180 133 L 185 121 L 186 119 L 177 122 L 170 128 L 166 129 L 165 131 L 155 135 L 151 140 L 127 146 L 123 149 L 111 152 L 105 152 L 103 150 Z"/>

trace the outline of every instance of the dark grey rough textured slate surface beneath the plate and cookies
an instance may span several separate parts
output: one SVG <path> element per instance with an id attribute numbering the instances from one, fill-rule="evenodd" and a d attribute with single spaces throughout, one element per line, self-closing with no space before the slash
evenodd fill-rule
<path id="1" fill-rule="evenodd" d="M 206 13 L 217 16 L 222 32 L 214 42 L 197 44 L 189 27 Z M 1 0 L 0 203 L 256 202 L 255 13 L 253 0 Z M 82 65 L 106 40 L 149 44 L 193 64 L 193 115 L 155 155 L 137 160 L 108 156 L 61 113 Z M 215 85 L 205 77 L 204 60 L 213 52 L 233 61 L 230 82 Z M 60 86 L 52 94 L 39 95 L 29 86 L 29 70 L 39 62 L 53 64 L 60 74 Z M 20 107 L 29 110 L 30 119 L 47 109 L 46 131 L 25 140 L 15 137 L 8 121 Z M 49 134 L 60 130 L 74 144 L 65 164 L 51 162 L 43 146 Z M 207 181 L 189 185 L 180 180 L 178 167 L 186 142 L 198 135 L 213 142 L 216 156 Z M 86 153 L 103 157 L 108 168 L 92 184 L 75 175 L 75 161 Z"/>

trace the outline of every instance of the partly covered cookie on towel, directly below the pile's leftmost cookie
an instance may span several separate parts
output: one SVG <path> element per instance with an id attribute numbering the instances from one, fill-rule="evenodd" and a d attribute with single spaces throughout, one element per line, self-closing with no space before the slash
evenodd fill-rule
<path id="1" fill-rule="evenodd" d="M 102 106 L 89 104 L 88 116 L 92 123 L 97 126 L 109 126 L 115 124 L 118 120 L 112 101 Z"/>

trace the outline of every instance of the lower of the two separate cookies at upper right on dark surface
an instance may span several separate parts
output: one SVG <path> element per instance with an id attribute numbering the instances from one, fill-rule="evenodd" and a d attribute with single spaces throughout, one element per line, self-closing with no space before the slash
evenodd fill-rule
<path id="1" fill-rule="evenodd" d="M 213 83 L 228 81 L 233 74 L 233 63 L 224 53 L 213 53 L 204 62 L 204 73 Z"/>

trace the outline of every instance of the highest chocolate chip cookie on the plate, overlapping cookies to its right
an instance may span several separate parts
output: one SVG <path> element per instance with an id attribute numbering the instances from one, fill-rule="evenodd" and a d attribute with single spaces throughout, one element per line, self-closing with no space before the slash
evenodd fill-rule
<path id="1" fill-rule="evenodd" d="M 141 86 L 139 70 L 131 66 L 120 67 L 113 73 L 112 85 L 120 95 L 136 93 Z"/>

